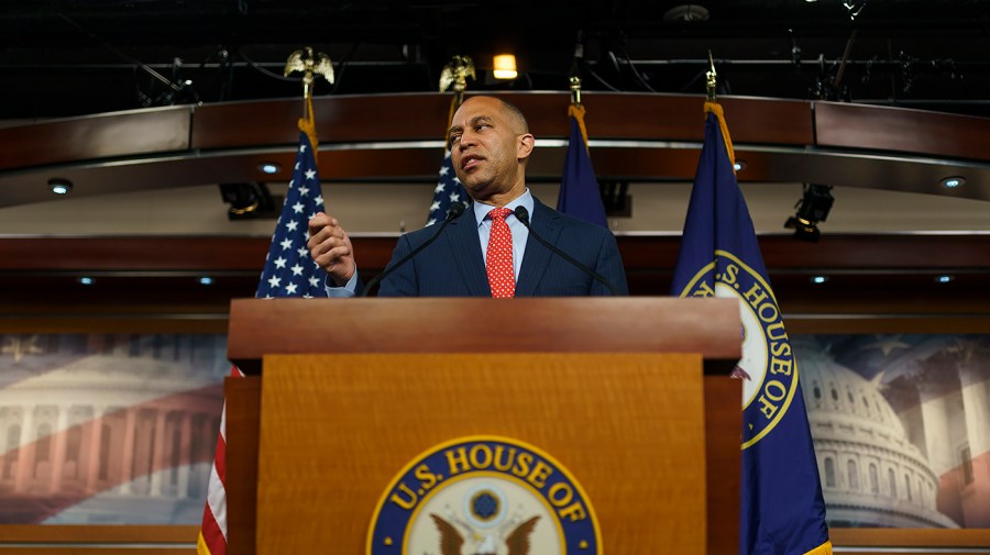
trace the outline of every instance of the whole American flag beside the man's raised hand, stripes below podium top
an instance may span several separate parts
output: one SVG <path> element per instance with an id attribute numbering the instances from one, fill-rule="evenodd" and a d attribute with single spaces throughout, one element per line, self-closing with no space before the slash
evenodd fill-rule
<path id="1" fill-rule="evenodd" d="M 323 288 L 324 273 L 312 258 L 306 247 L 310 218 L 323 210 L 323 195 L 320 190 L 320 178 L 317 176 L 316 153 L 309 136 L 299 133 L 299 151 L 296 153 L 296 165 L 293 179 L 285 195 L 282 215 L 275 223 L 272 245 L 265 258 L 261 281 L 255 297 L 272 299 L 275 297 L 327 297 Z M 243 376 L 234 366 L 232 376 Z M 227 555 L 227 407 L 220 422 L 220 436 L 217 439 L 217 452 L 207 490 L 207 503 L 204 509 L 202 528 L 197 542 L 199 555 Z"/>

